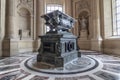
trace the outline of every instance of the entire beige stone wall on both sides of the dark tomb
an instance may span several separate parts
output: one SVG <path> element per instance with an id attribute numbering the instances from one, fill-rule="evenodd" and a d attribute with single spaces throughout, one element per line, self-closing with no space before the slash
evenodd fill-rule
<path id="1" fill-rule="evenodd" d="M 37 51 L 40 46 L 38 36 L 45 34 L 44 20 L 40 16 L 45 13 L 45 4 L 50 3 L 50 0 L 0 1 L 2 3 L 0 5 L 0 56 L 2 55 L 1 51 L 8 51 L 3 53 L 6 56 L 26 51 Z M 111 0 L 52 1 L 63 4 L 65 13 L 77 20 L 72 32 L 76 36 L 80 33 L 78 43 L 81 49 L 120 54 L 120 40 L 109 38 L 110 32 L 112 32 L 111 7 L 107 8 L 106 5 L 110 6 Z M 82 16 L 87 16 L 88 28 L 81 31 L 78 18 Z"/>

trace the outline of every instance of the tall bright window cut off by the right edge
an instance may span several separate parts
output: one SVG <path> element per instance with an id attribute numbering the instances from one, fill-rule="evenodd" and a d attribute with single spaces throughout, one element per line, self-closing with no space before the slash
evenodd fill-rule
<path id="1" fill-rule="evenodd" d="M 120 0 L 113 0 L 113 36 L 120 36 Z"/>

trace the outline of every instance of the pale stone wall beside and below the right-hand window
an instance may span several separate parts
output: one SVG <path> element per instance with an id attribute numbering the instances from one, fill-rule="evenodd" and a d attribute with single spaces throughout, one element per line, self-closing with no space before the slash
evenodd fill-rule
<path id="1" fill-rule="evenodd" d="M 102 30 L 101 35 L 103 38 L 102 51 L 108 54 L 120 55 L 120 38 L 112 36 L 112 0 L 101 0 L 100 4 Z"/>

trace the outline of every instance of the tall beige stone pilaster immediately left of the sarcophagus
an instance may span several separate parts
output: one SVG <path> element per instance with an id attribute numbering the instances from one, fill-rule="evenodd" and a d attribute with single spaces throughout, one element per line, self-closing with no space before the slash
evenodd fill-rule
<path id="1" fill-rule="evenodd" d="M 45 33 L 44 30 L 44 20 L 41 18 L 41 15 L 45 13 L 45 1 L 46 0 L 36 0 L 36 40 L 35 40 L 35 48 L 36 51 L 40 46 L 40 38 L 38 36 L 43 35 Z"/>

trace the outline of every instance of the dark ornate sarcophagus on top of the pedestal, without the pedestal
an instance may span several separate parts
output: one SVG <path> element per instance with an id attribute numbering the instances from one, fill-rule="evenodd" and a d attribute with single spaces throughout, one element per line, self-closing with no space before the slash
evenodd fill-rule
<path id="1" fill-rule="evenodd" d="M 75 23 L 75 20 L 72 17 L 58 10 L 45 14 L 41 17 L 45 19 L 45 24 L 50 27 L 50 31 L 69 30 L 73 27 L 73 24 Z"/>

